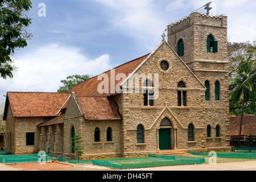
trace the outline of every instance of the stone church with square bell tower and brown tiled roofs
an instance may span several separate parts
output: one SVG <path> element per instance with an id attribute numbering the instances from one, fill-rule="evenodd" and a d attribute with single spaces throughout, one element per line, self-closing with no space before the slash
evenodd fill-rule
<path id="1" fill-rule="evenodd" d="M 7 92 L 6 150 L 72 156 L 75 135 L 84 159 L 231 150 L 227 16 L 193 11 L 167 30 L 69 93 Z"/>

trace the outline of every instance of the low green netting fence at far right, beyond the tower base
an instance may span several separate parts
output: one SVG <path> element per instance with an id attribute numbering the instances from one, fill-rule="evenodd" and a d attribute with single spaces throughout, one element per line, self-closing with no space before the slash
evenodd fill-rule
<path id="1" fill-rule="evenodd" d="M 188 154 L 211 157 L 212 155 L 206 152 L 192 152 L 188 151 Z M 256 159 L 256 151 L 253 152 L 223 152 L 216 153 L 217 158 L 230 158 L 230 159 Z"/>

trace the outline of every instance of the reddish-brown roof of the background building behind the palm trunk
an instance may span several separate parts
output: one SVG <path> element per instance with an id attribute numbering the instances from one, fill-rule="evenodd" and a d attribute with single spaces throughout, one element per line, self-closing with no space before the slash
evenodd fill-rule
<path id="1" fill-rule="evenodd" d="M 241 116 L 229 117 L 230 135 L 239 135 Z M 243 115 L 241 135 L 256 135 L 256 115 Z"/>

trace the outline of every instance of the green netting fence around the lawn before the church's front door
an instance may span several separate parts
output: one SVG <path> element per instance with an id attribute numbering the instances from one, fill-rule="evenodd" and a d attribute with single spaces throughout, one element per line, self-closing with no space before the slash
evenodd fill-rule
<path id="1" fill-rule="evenodd" d="M 118 159 L 101 159 L 101 160 L 74 160 L 60 158 L 60 162 L 69 162 L 76 164 L 95 164 L 98 166 L 112 167 L 117 169 L 127 168 L 144 168 L 157 166 L 172 166 L 184 164 L 204 163 L 204 158 L 191 156 L 168 156 L 148 154 L 147 157 L 141 158 L 118 158 Z"/>

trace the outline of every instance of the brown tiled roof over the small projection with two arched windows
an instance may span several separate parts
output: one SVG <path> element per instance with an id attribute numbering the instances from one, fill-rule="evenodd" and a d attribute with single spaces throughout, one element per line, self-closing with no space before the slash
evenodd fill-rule
<path id="1" fill-rule="evenodd" d="M 88 120 L 113 120 L 122 119 L 118 105 L 108 97 L 77 97 L 85 119 Z"/>

